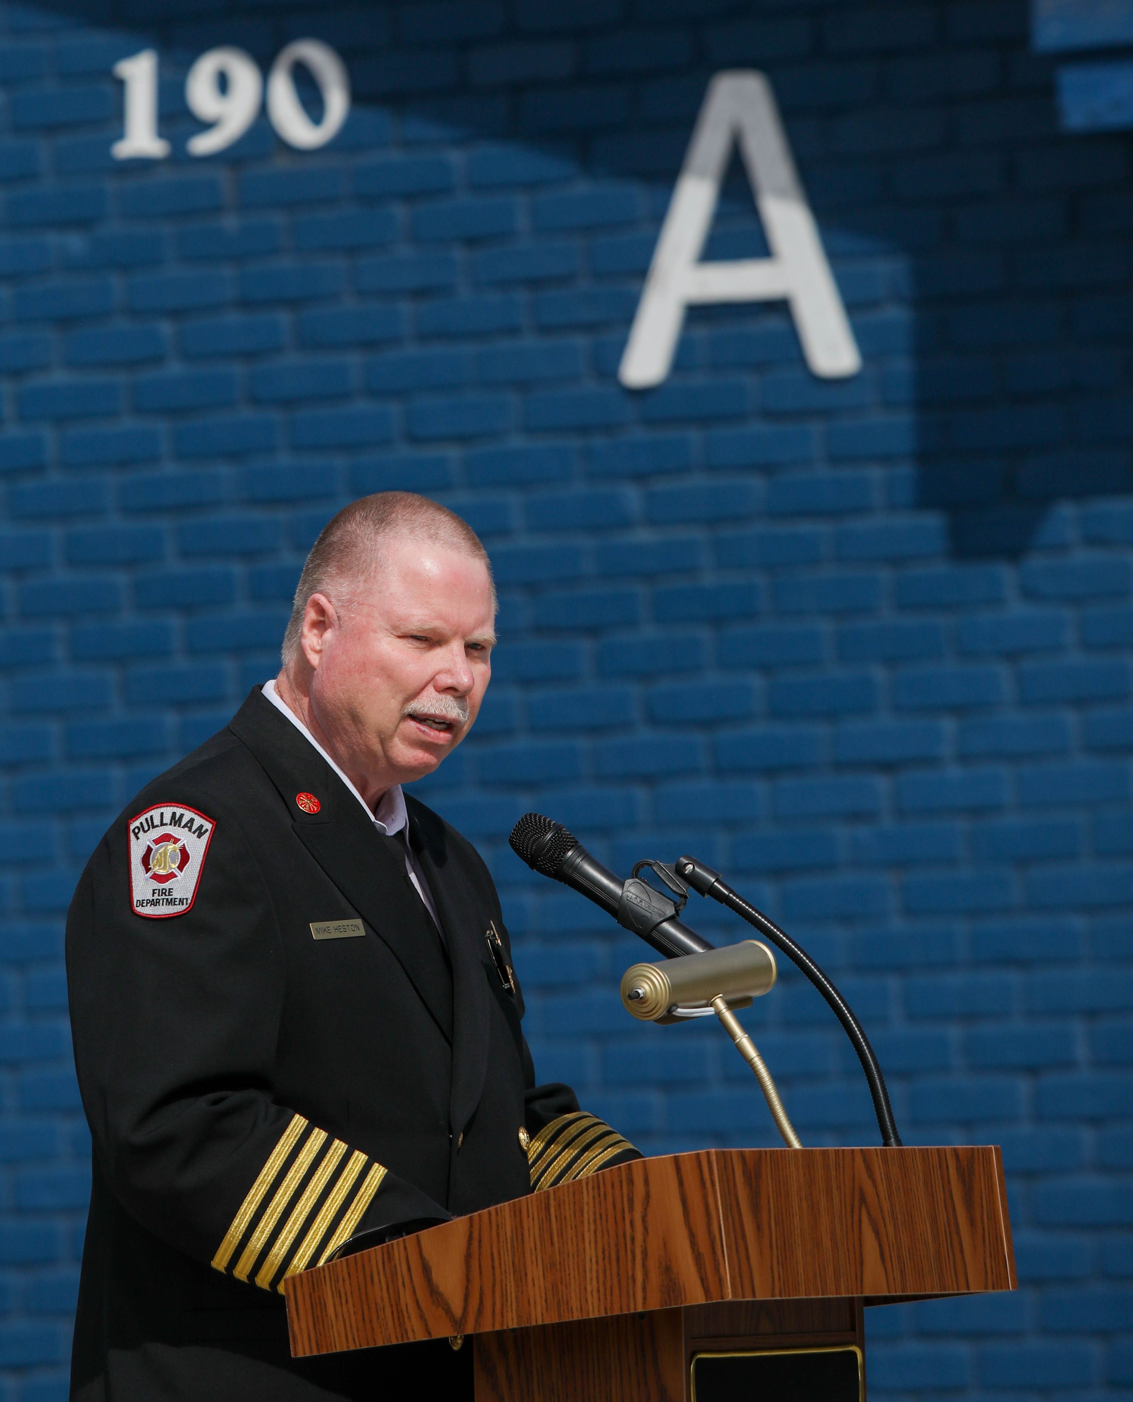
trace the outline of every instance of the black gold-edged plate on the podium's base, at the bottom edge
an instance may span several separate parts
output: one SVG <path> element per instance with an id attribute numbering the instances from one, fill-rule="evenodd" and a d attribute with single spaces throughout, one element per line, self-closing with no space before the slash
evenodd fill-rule
<path id="1" fill-rule="evenodd" d="M 697 1353 L 691 1402 L 865 1402 L 861 1350 Z"/>

